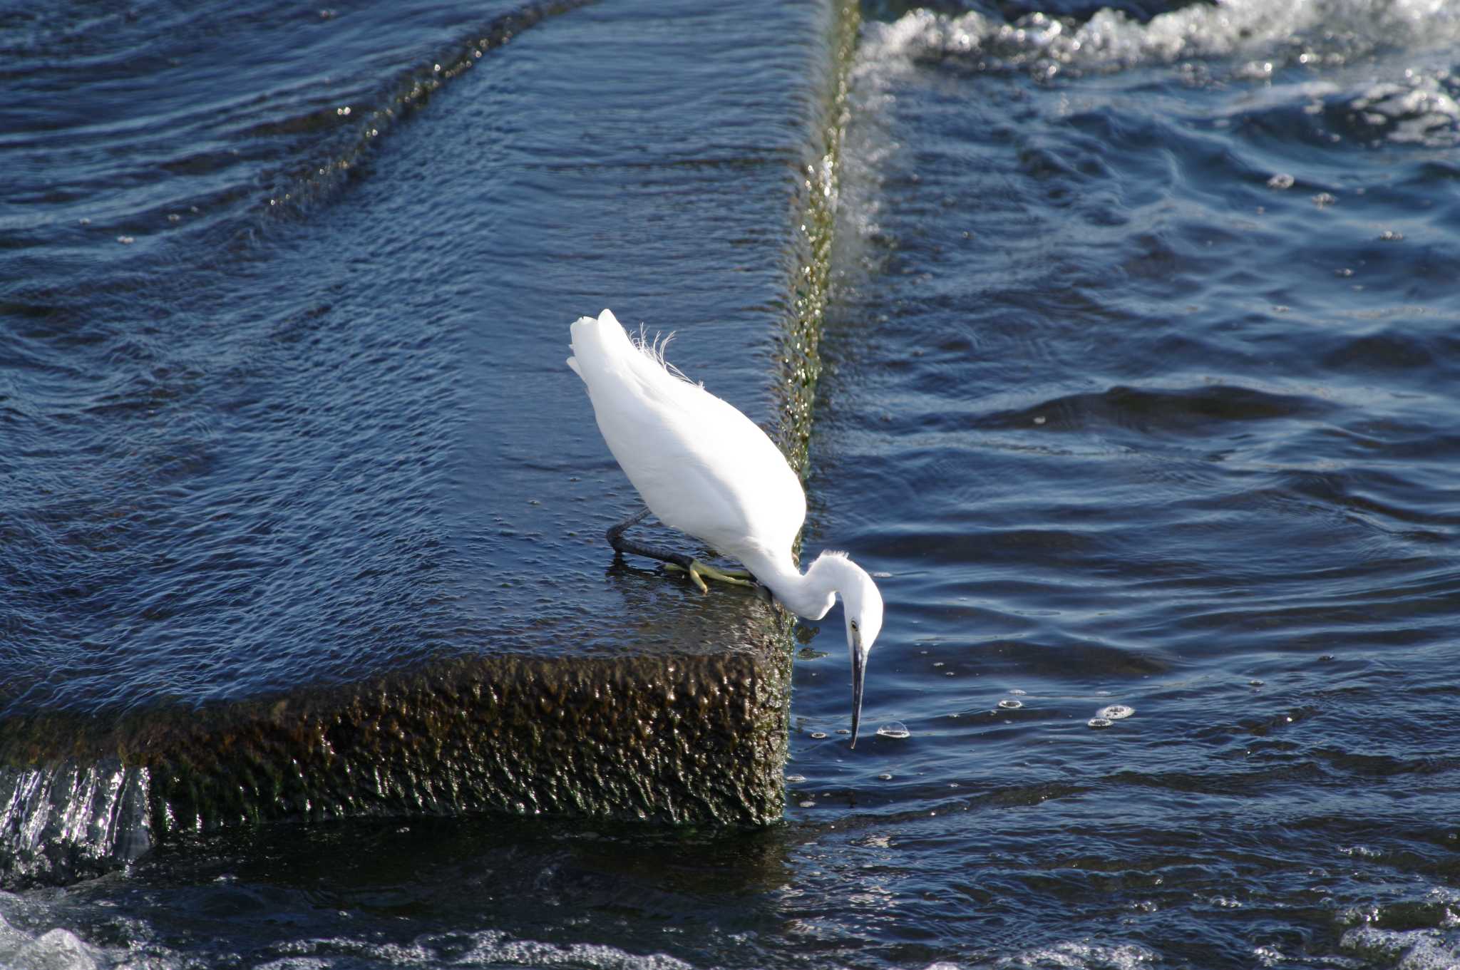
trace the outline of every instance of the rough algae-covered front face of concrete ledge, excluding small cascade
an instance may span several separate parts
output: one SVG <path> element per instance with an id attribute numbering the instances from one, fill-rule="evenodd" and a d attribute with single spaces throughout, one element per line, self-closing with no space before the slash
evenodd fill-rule
<path id="1" fill-rule="evenodd" d="M 460 661 L 152 719 L 137 756 L 155 833 L 473 811 L 765 824 L 781 814 L 787 668 L 778 651 Z"/>

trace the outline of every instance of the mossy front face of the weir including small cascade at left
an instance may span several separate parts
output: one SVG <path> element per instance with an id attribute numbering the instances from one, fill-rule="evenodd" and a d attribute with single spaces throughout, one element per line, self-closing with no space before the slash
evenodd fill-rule
<path id="1" fill-rule="evenodd" d="M 237 824 L 508 812 L 761 826 L 790 653 L 472 658 L 111 726 L 0 722 L 0 882 L 69 881 Z"/>

